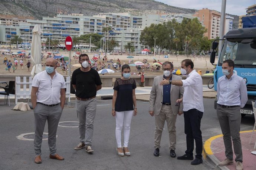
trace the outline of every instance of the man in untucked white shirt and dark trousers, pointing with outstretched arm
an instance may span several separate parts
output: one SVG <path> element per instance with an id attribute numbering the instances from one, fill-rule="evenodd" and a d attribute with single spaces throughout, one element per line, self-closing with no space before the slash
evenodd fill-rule
<path id="1" fill-rule="evenodd" d="M 203 163 L 203 141 L 200 130 L 201 119 L 203 117 L 203 81 L 201 76 L 196 72 L 194 63 L 191 59 L 184 59 L 181 62 L 181 74 L 187 75 L 186 80 L 172 81 L 172 85 L 184 87 L 183 98 L 177 102 L 183 102 L 184 125 L 187 140 L 186 154 L 178 156 L 180 160 L 193 160 L 194 140 L 196 142 L 196 158 L 191 162 L 192 165 Z"/>

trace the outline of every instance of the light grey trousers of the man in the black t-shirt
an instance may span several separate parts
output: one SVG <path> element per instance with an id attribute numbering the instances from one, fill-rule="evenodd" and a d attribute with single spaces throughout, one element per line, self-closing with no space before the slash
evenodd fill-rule
<path id="1" fill-rule="evenodd" d="M 88 101 L 76 99 L 76 113 L 79 121 L 78 129 L 80 142 L 85 145 L 92 145 L 93 122 L 96 115 L 96 98 Z"/>

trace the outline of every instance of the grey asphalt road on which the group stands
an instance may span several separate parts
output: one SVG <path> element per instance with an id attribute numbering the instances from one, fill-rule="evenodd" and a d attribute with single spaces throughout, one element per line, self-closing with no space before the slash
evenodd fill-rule
<path id="1" fill-rule="evenodd" d="M 204 99 L 205 112 L 201 122 L 203 141 L 211 136 L 221 134 L 216 110 L 213 108 L 214 99 Z M 42 143 L 42 163 L 35 164 L 33 141 L 19 140 L 16 136 L 22 133 L 34 132 L 33 110 L 27 112 L 10 110 L 9 106 L 0 103 L 0 169 L 214 169 L 206 161 L 192 166 L 188 160 L 171 158 L 168 149 L 168 132 L 162 135 L 160 157 L 153 156 L 154 152 L 154 118 L 148 114 L 148 102 L 137 101 L 138 115 L 133 117 L 129 140 L 130 157 L 119 157 L 116 153 L 115 118 L 111 115 L 112 100 L 99 100 L 94 124 L 92 148 L 93 154 L 85 149 L 74 150 L 79 143 L 78 128 L 58 127 L 57 152 L 65 160 L 49 159 L 47 140 Z M 74 101 L 72 105 L 75 106 Z M 12 103 L 11 108 L 13 108 Z M 64 108 L 60 121 L 78 121 L 75 108 Z M 242 118 L 241 130 L 252 130 L 253 116 Z M 177 156 L 186 150 L 184 135 L 184 118 L 177 118 Z M 47 132 L 47 124 L 45 127 Z"/>

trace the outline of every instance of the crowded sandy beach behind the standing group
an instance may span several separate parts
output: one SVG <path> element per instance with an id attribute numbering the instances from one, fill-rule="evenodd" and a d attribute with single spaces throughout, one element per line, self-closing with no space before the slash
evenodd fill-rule
<path id="1" fill-rule="evenodd" d="M 0 49 L 1 51 L 1 49 Z M 20 50 L 12 50 L 12 52 L 17 52 L 17 51 L 20 51 Z M 29 54 L 29 51 L 25 51 L 26 54 L 28 55 Z M 51 52 L 51 51 L 50 51 Z M 78 59 L 74 59 L 73 58 L 73 52 L 75 51 L 72 51 L 71 52 L 71 74 L 72 72 L 77 69 L 78 67 L 72 67 L 72 65 L 74 64 L 78 64 Z M 46 56 L 47 56 L 47 53 L 43 53 L 44 54 L 44 58 L 42 59 L 42 63 L 45 63 L 46 61 Z M 60 54 L 68 57 L 68 52 L 66 51 L 62 51 L 60 52 Z M 89 58 L 92 59 L 93 56 L 95 54 L 98 54 L 98 53 L 87 53 L 89 55 Z M 108 60 L 110 59 L 114 59 L 114 61 L 116 61 L 118 58 L 119 60 L 121 61 L 121 64 L 128 64 L 129 62 L 129 58 L 127 58 L 129 54 L 122 54 L 122 55 L 107 55 L 107 58 Z M 76 54 L 76 56 L 78 56 L 78 54 Z M 103 55 L 101 55 L 103 57 Z M 154 59 L 155 58 L 157 61 L 159 60 L 160 62 L 164 62 L 164 61 L 170 61 L 170 62 L 173 62 L 173 65 L 174 65 L 174 69 L 180 69 L 180 63 L 183 59 L 186 59 L 186 58 L 189 58 L 191 59 L 193 62 L 194 62 L 194 69 L 196 69 L 196 71 L 198 70 L 201 70 L 202 71 L 202 74 L 205 74 L 206 71 L 210 71 L 211 72 L 211 69 L 214 70 L 214 66 L 211 65 L 210 63 L 210 58 L 209 56 L 205 57 L 185 57 L 185 56 L 178 56 L 176 57 L 176 55 L 169 55 L 169 58 L 164 58 L 164 55 L 132 55 L 134 56 L 134 58 L 131 58 L 131 60 L 133 59 L 133 62 L 136 62 L 136 61 L 143 61 L 143 59 L 147 59 L 148 60 L 148 63 L 149 64 L 152 64 Z M 30 72 L 27 72 L 27 67 L 25 66 L 27 64 L 27 61 L 28 61 L 28 58 L 24 58 L 23 59 L 23 62 L 24 62 L 24 65 L 23 65 L 23 70 L 20 68 L 20 64 L 18 64 L 18 67 L 17 67 L 17 70 L 15 70 L 15 73 L 13 73 L 13 69 L 11 69 L 11 73 L 7 70 L 6 71 L 6 65 L 3 64 L 3 60 L 4 60 L 4 57 L 7 57 L 8 61 L 11 60 L 12 61 L 12 64 L 14 65 L 14 58 L 11 58 L 11 55 L 0 55 L 0 59 L 1 59 L 1 63 L 0 63 L 0 75 L 29 75 Z M 18 61 L 20 61 L 21 58 L 17 58 Z M 30 60 L 31 61 L 31 60 Z M 98 61 L 100 62 L 103 62 L 102 59 L 98 59 Z M 108 62 L 109 63 L 109 62 Z M 107 62 L 105 62 L 105 64 L 107 65 L 108 64 Z M 33 64 L 32 66 L 30 67 L 30 71 L 33 67 Z M 154 75 L 162 75 L 163 74 L 163 71 L 162 69 L 160 69 L 160 71 L 158 72 L 152 72 L 151 71 L 151 67 L 152 65 L 150 66 L 150 69 L 148 70 L 145 70 L 144 69 L 144 73 L 145 73 L 145 76 L 154 76 Z M 98 66 L 99 68 L 99 66 Z M 156 66 L 154 66 L 154 68 L 156 68 Z M 43 69 L 45 69 L 45 67 L 43 67 Z M 112 69 L 112 65 L 111 65 L 111 69 Z M 66 71 L 62 71 L 61 68 L 57 68 L 56 69 L 57 72 L 59 72 L 60 74 L 62 75 L 68 75 L 68 72 Z M 131 67 L 131 74 L 134 74 L 134 73 L 138 73 L 136 67 Z M 115 73 L 112 73 L 111 75 L 120 75 L 120 70 L 118 68 L 118 70 L 115 72 Z"/>

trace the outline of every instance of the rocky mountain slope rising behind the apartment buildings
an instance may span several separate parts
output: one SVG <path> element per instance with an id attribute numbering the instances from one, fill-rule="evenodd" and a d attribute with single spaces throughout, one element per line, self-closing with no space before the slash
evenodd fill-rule
<path id="1" fill-rule="evenodd" d="M 0 4 L 0 14 L 32 16 L 36 19 L 72 13 L 92 16 L 103 12 L 129 12 L 134 15 L 195 12 L 193 9 L 169 6 L 155 0 L 1 0 Z"/>

